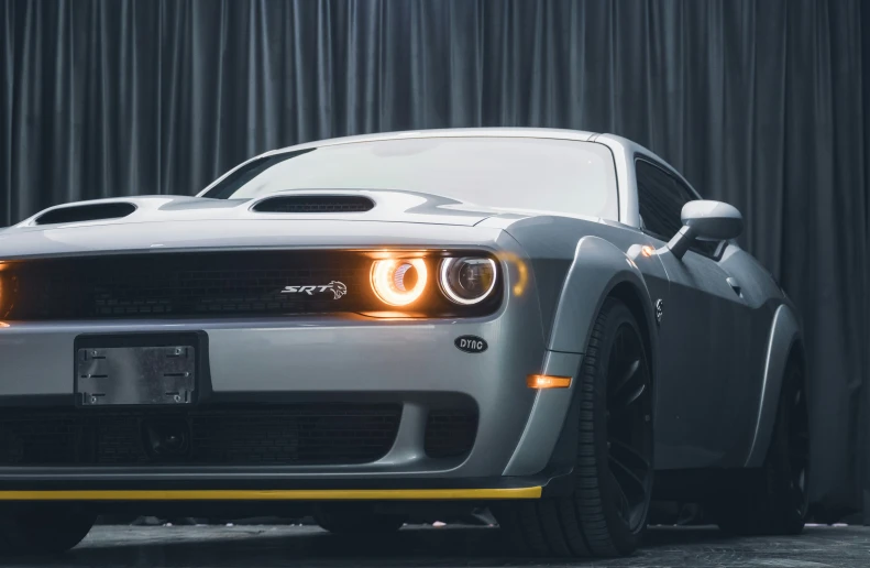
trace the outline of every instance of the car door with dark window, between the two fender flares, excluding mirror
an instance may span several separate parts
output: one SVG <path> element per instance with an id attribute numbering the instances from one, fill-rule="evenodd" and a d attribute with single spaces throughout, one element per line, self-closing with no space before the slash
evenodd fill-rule
<path id="1" fill-rule="evenodd" d="M 753 420 L 741 416 L 751 320 L 739 285 L 718 259 L 725 242 L 696 241 L 682 259 L 664 245 L 682 228 L 683 206 L 698 197 L 653 160 L 635 162 L 642 230 L 656 240 L 669 281 L 660 327 L 656 413 L 657 466 L 740 465 Z M 730 278 L 730 280 L 729 280 Z M 737 290 L 736 290 L 737 287 Z"/>

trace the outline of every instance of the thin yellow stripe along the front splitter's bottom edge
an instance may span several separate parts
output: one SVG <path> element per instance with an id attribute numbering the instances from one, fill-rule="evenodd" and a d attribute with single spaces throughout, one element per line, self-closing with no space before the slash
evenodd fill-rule
<path id="1" fill-rule="evenodd" d="M 540 499 L 541 488 L 361 490 L 0 491 L 0 501 L 428 501 Z"/>

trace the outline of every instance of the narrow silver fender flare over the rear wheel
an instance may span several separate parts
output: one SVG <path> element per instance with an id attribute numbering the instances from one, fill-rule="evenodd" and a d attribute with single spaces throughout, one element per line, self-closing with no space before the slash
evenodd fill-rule
<path id="1" fill-rule="evenodd" d="M 773 323 L 770 326 L 768 336 L 768 353 L 761 382 L 756 430 L 746 459 L 746 468 L 760 468 L 764 463 L 764 458 L 768 455 L 768 448 L 773 437 L 774 423 L 777 422 L 785 365 L 789 363 L 789 358 L 792 357 L 794 346 L 801 343 L 801 323 L 791 307 L 786 304 L 781 304 L 773 314 Z M 806 363 L 801 361 L 800 364 L 804 365 L 806 387 L 808 385 Z M 810 393 L 808 389 L 804 392 Z"/>

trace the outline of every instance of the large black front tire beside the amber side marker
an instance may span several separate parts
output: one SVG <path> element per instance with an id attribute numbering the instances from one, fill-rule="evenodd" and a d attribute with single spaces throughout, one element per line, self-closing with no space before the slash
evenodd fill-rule
<path id="1" fill-rule="evenodd" d="M 627 556 L 647 527 L 652 492 L 652 383 L 640 328 L 607 298 L 577 372 L 573 494 L 502 503 L 495 513 L 521 553 Z"/>

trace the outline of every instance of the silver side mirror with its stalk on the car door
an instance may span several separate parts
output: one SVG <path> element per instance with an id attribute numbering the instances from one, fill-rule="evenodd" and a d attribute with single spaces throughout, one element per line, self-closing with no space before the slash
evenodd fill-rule
<path id="1" fill-rule="evenodd" d="M 695 239 L 723 241 L 735 239 L 744 232 L 740 211 L 722 201 L 689 201 L 683 206 L 680 218 L 683 228 L 668 243 L 678 259 L 683 258 Z"/>

